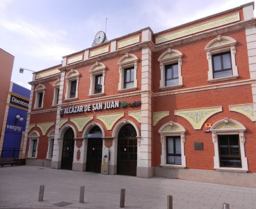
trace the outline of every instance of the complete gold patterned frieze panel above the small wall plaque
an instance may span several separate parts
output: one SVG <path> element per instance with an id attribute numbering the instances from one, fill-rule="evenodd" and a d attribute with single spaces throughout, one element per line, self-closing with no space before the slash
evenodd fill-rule
<path id="1" fill-rule="evenodd" d="M 185 118 L 194 129 L 201 129 L 204 122 L 217 112 L 221 112 L 222 107 L 198 108 L 187 110 L 175 110 L 174 115 Z"/>

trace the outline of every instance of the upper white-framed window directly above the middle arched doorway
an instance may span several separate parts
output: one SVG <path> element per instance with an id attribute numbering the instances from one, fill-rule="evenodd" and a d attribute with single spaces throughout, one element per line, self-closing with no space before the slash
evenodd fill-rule
<path id="1" fill-rule="evenodd" d="M 90 89 L 89 96 L 100 96 L 105 93 L 105 75 L 106 66 L 103 63 L 96 62 L 89 70 Z"/>

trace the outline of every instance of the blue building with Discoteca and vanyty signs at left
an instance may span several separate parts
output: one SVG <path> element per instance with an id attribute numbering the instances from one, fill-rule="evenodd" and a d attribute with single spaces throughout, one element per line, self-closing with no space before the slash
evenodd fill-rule
<path id="1" fill-rule="evenodd" d="M 11 82 L 0 139 L 1 158 L 21 158 L 30 90 Z"/>

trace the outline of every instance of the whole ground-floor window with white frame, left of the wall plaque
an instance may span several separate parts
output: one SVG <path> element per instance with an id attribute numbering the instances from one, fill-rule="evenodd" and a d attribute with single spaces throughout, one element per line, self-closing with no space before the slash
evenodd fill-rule
<path id="1" fill-rule="evenodd" d="M 176 122 L 170 121 L 167 124 L 164 124 L 158 132 L 160 134 L 162 145 L 160 166 L 185 168 L 185 128 Z"/>

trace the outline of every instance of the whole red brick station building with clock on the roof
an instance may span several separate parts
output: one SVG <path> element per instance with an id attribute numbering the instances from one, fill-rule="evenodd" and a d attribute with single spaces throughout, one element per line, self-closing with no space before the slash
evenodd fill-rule
<path id="1" fill-rule="evenodd" d="M 111 41 L 100 32 L 34 73 L 26 164 L 255 187 L 253 7 Z"/>

